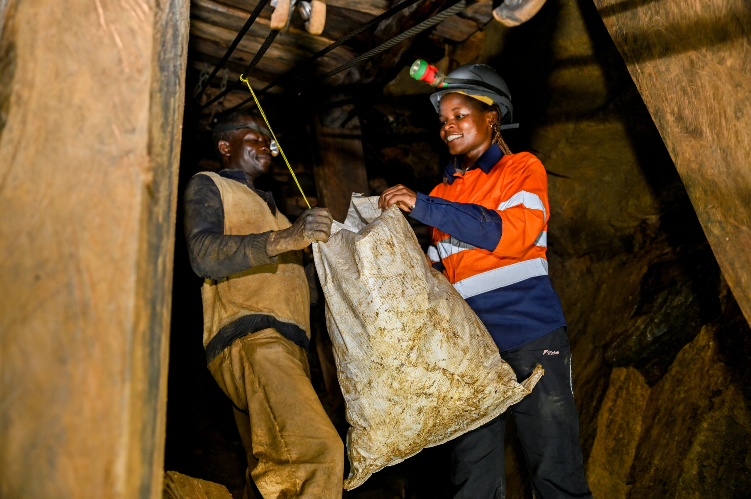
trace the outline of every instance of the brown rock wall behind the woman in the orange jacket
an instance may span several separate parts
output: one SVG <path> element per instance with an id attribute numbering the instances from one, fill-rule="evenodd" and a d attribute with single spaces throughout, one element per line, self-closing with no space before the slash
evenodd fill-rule
<path id="1" fill-rule="evenodd" d="M 521 125 L 506 140 L 548 170 L 550 278 L 595 497 L 742 497 L 751 331 L 593 3 L 548 0 L 529 23 L 491 23 L 441 56 L 446 69 L 499 70 Z M 427 93 L 400 74 L 361 105 L 371 182 L 440 180 L 448 157 Z M 507 497 L 531 497 L 509 427 Z"/>

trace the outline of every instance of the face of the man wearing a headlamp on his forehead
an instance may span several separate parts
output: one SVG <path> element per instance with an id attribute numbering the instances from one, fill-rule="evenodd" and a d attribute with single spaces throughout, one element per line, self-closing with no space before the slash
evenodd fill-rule
<path id="1" fill-rule="evenodd" d="M 266 125 L 255 116 L 243 116 L 237 124 Z M 270 138 L 259 131 L 240 128 L 232 131 L 228 140 L 219 140 L 217 148 L 222 155 L 222 167 L 229 170 L 243 170 L 246 176 L 258 178 L 268 173 L 271 166 Z"/>

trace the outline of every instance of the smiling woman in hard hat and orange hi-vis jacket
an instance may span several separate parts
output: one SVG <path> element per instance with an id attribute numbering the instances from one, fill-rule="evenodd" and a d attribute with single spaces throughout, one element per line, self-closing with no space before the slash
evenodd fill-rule
<path id="1" fill-rule="evenodd" d="M 502 359 L 524 380 L 545 374 L 508 410 L 516 422 L 535 497 L 592 497 L 584 476 L 571 352 L 560 301 L 547 276 L 547 176 L 529 152 L 512 154 L 501 137 L 511 98 L 487 65 L 466 65 L 430 96 L 440 134 L 454 155 L 429 195 L 388 188 L 397 203 L 433 227 L 428 257 L 483 321 Z M 505 497 L 506 414 L 450 443 L 456 499 Z"/>

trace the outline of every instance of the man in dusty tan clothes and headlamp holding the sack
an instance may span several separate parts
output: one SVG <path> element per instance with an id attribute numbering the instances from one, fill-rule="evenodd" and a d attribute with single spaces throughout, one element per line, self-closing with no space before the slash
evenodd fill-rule
<path id="1" fill-rule="evenodd" d="M 234 404 L 252 478 L 264 499 L 342 496 L 344 448 L 310 383 L 309 289 L 302 250 L 327 241 L 331 215 L 309 209 L 290 224 L 255 179 L 268 172 L 263 122 L 234 113 L 213 129 L 219 173 L 185 190 L 185 239 L 205 278 L 209 369 Z M 246 494 L 252 497 L 250 482 Z"/>

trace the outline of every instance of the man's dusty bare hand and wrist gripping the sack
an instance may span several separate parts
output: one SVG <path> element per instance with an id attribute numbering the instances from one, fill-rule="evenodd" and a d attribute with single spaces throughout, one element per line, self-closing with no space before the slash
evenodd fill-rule
<path id="1" fill-rule="evenodd" d="M 266 253 L 274 257 L 285 251 L 305 249 L 313 241 L 327 242 L 331 235 L 332 222 L 333 218 L 327 209 L 306 209 L 291 227 L 269 234 Z"/>

